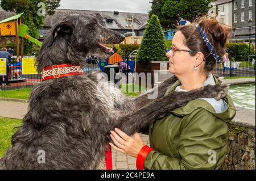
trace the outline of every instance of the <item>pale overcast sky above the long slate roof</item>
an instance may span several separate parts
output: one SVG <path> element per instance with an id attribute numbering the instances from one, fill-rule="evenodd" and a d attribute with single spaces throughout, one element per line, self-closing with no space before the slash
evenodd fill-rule
<path id="1" fill-rule="evenodd" d="M 61 0 L 60 9 L 147 13 L 151 0 Z"/>

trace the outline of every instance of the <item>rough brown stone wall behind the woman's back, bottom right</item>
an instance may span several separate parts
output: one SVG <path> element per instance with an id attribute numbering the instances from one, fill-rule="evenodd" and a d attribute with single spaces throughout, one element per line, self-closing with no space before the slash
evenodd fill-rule
<path id="1" fill-rule="evenodd" d="M 223 170 L 255 170 L 255 127 L 243 123 L 229 124 L 228 154 Z"/>

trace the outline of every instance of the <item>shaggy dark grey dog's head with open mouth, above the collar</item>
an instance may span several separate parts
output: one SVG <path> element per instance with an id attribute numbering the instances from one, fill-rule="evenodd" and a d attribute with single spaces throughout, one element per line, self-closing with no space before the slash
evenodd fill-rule
<path id="1" fill-rule="evenodd" d="M 69 15 L 57 23 L 44 40 L 37 58 L 38 71 L 46 64 L 82 65 L 86 56 L 107 58 L 113 50 L 104 44 L 118 44 L 124 39 L 124 35 L 103 27 L 93 16 Z"/>

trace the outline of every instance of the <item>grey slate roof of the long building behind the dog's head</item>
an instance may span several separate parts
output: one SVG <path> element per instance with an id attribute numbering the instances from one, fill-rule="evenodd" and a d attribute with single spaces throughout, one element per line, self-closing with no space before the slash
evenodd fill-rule
<path id="1" fill-rule="evenodd" d="M 46 16 L 44 19 L 44 26 L 53 27 L 57 22 L 70 14 L 92 15 L 97 18 L 98 22 L 110 29 L 131 29 L 126 27 L 126 18 L 133 16 L 134 30 L 141 28 L 148 20 L 148 14 L 135 13 L 135 12 L 119 12 L 118 15 L 114 15 L 113 11 L 88 11 L 88 10 L 68 10 L 68 9 L 56 9 L 55 14 L 52 16 Z M 107 23 L 106 18 L 113 19 L 113 23 Z"/>

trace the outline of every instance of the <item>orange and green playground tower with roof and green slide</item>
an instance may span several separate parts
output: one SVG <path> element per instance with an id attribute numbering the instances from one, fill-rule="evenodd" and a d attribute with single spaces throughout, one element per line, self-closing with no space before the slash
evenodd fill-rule
<path id="1" fill-rule="evenodd" d="M 24 38 L 28 41 L 31 41 L 32 43 L 37 44 L 39 47 L 42 46 L 42 42 L 34 39 L 30 35 L 28 35 L 28 27 L 26 24 L 23 24 L 22 21 L 23 18 L 23 12 L 20 14 L 17 14 L 15 16 L 11 16 L 10 18 L 4 19 L 0 21 L 0 35 L 1 35 L 1 41 L 2 41 L 2 47 L 6 48 L 6 41 L 5 37 L 16 37 L 16 54 L 17 57 L 20 56 L 19 51 L 19 37 L 21 38 L 21 56 L 23 57 L 23 42 Z"/>

